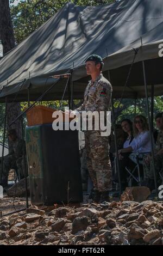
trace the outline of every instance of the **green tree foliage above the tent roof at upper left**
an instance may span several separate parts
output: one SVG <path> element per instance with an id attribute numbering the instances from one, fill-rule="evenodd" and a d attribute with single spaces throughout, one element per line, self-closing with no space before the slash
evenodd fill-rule
<path id="1" fill-rule="evenodd" d="M 10 1 L 11 3 L 14 0 Z M 16 6 L 11 5 L 11 19 L 14 27 L 16 43 L 27 38 L 32 32 L 43 23 L 54 16 L 62 8 L 67 0 L 25 0 L 20 1 Z M 99 5 L 114 2 L 111 0 L 79 0 L 72 1 L 76 5 Z"/>

